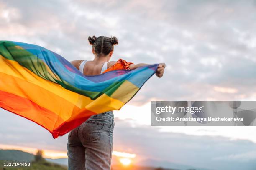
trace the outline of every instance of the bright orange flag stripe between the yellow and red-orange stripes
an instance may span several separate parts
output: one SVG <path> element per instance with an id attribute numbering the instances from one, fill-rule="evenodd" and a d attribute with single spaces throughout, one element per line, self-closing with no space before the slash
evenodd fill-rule
<path id="1" fill-rule="evenodd" d="M 0 73 L 0 90 L 27 98 L 37 105 L 59 115 L 63 120 L 69 119 L 74 107 L 77 107 L 49 90 L 27 82 L 26 80 L 6 75 L 5 73 Z"/>

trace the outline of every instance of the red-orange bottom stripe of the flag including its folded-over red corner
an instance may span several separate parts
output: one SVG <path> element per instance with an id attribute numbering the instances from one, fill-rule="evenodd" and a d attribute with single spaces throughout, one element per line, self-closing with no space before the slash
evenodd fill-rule
<path id="1" fill-rule="evenodd" d="M 73 112 L 79 112 L 79 114 L 64 121 L 54 112 L 37 105 L 31 100 L 1 90 L 0 107 L 42 126 L 52 134 L 54 139 L 65 135 L 70 130 L 85 122 L 91 115 L 95 115 L 95 112 L 91 112 L 85 108 L 79 109 L 78 107 L 74 107 Z M 87 117 L 80 117 L 81 113 L 84 113 L 82 115 L 87 115 Z M 45 122 L 47 122 L 47 124 Z M 57 128 L 54 129 L 53 127 Z"/>

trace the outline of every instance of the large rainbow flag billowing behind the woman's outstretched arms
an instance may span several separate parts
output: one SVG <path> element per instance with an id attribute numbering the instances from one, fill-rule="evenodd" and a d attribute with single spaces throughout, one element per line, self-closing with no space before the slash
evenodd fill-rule
<path id="1" fill-rule="evenodd" d="M 91 115 L 119 110 L 157 66 L 85 76 L 44 47 L 0 41 L 0 107 L 36 122 L 57 138 Z"/>

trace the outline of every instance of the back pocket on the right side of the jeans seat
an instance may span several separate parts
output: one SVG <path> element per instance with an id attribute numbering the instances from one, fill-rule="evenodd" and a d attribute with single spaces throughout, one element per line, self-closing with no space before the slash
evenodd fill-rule
<path id="1" fill-rule="evenodd" d="M 84 140 L 96 141 L 100 140 L 100 134 L 104 127 L 104 123 L 87 120 L 83 126 L 82 136 Z"/>

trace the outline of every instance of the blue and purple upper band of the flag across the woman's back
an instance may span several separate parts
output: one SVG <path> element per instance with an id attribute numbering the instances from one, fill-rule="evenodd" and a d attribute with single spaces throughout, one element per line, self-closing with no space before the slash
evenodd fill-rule
<path id="1" fill-rule="evenodd" d="M 122 80 L 128 80 L 140 88 L 144 82 L 154 74 L 157 67 L 157 64 L 155 64 L 139 67 L 135 70 L 114 70 L 102 75 L 85 76 L 69 61 L 44 47 L 21 42 L 13 43 L 19 45 L 23 49 L 26 49 L 33 55 L 36 55 L 38 59 L 44 61 L 51 71 L 58 75 L 62 81 L 65 81 L 81 90 L 92 92 L 102 92 L 114 82 L 120 82 Z M 64 65 L 72 68 L 72 71 L 67 70 Z"/>

